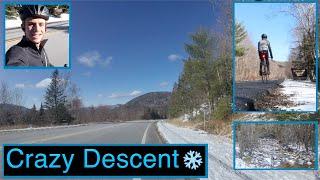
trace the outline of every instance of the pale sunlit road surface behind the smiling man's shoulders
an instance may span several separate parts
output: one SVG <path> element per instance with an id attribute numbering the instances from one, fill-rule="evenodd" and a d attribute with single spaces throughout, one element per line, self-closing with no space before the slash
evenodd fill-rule
<path id="1" fill-rule="evenodd" d="M 6 30 L 6 52 L 7 50 L 20 42 L 24 32 L 21 28 Z M 48 24 L 45 39 L 48 39 L 45 45 L 49 61 L 54 66 L 69 66 L 69 21 L 54 22 Z"/>

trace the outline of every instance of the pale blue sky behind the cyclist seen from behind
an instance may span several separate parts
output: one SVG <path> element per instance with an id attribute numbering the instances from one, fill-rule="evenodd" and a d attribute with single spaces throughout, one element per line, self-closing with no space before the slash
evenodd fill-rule
<path id="1" fill-rule="evenodd" d="M 290 3 L 236 3 L 235 18 L 245 25 L 251 41 L 257 46 L 261 34 L 266 33 L 275 60 L 287 61 L 294 37 L 295 19 L 280 10 Z"/>

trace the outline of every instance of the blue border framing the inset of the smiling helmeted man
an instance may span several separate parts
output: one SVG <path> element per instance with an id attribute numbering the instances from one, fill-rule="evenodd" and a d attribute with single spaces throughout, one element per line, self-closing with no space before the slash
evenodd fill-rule
<path id="1" fill-rule="evenodd" d="M 5 0 L 3 2 L 1 2 L 2 4 L 2 25 L 3 25 L 3 35 L 2 35 L 2 39 L 3 39 L 3 54 L 2 54 L 2 58 L 3 58 L 3 69 L 71 69 L 72 67 L 72 61 L 71 61 L 71 38 L 72 38 L 72 3 L 71 0 L 58 0 L 58 1 L 23 1 L 23 0 L 18 0 L 18 1 L 13 1 L 13 0 Z M 6 21 L 6 16 L 5 16 L 5 10 L 6 10 L 6 6 L 7 5 L 12 5 L 12 4 L 24 4 L 24 5 L 28 5 L 28 4 L 42 4 L 42 5 L 68 5 L 69 6 L 69 45 L 68 45 L 68 49 L 69 49 L 69 59 L 68 59 L 68 67 L 63 67 L 63 66 L 58 66 L 58 67 L 42 67 L 42 66 L 7 66 L 6 65 L 6 59 L 5 59 L 5 54 L 6 54 L 6 27 L 5 27 L 5 21 Z"/>

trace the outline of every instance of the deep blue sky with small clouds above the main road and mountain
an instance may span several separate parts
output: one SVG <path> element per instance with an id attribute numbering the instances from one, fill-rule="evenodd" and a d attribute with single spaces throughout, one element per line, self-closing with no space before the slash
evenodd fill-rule
<path id="1" fill-rule="evenodd" d="M 213 17 L 206 1 L 72 3 L 70 73 L 84 105 L 122 104 L 147 92 L 171 91 L 187 57 L 184 43 L 200 27 L 212 29 Z M 22 89 L 25 106 L 39 107 L 51 73 L 0 70 L 0 81 Z"/>

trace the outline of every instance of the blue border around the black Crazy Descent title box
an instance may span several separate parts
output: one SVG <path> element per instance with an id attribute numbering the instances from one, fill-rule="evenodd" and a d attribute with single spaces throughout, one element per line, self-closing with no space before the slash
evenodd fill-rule
<path id="1" fill-rule="evenodd" d="M 205 175 L 204 176 L 4 176 L 4 146 L 204 146 L 205 147 Z M 0 147 L 1 149 L 1 147 Z M 27 178 L 27 179 L 39 179 L 39 178 L 150 178 L 156 177 L 163 178 L 208 178 L 208 144 L 3 144 L 2 145 L 2 174 L 0 178 L 12 179 L 12 178 Z"/>

